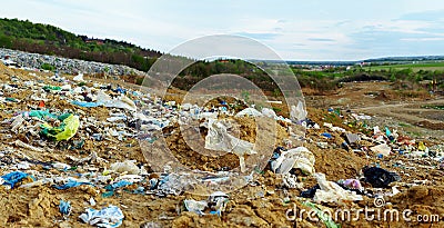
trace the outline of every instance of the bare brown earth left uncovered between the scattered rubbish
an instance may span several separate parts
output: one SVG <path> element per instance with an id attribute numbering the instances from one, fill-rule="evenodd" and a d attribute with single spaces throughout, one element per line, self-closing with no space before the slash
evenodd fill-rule
<path id="1" fill-rule="evenodd" d="M 21 70 L 11 70 L 1 68 L 0 79 L 2 82 L 11 82 L 11 76 L 17 76 L 21 80 L 37 80 L 44 78 L 39 75 L 38 78 L 29 76 L 28 72 Z M 68 77 L 70 78 L 70 77 Z M 115 83 L 111 80 L 101 80 Z M 124 82 L 119 82 L 124 85 Z M 133 85 L 124 85 L 125 87 L 134 87 Z M 339 117 L 331 116 L 326 112 L 329 107 L 341 108 L 343 111 L 351 109 L 357 113 L 369 113 L 375 116 L 370 120 L 369 125 L 390 126 L 398 129 L 401 133 L 410 135 L 417 140 L 424 140 L 432 146 L 443 142 L 443 110 L 424 109 L 425 103 L 443 105 L 444 100 L 440 97 L 430 96 L 427 92 L 414 91 L 411 93 L 402 91 L 392 91 L 389 82 L 360 82 L 345 83 L 336 93 L 326 96 L 310 95 L 305 91 L 305 101 L 309 108 L 309 117 L 317 122 L 321 127 L 324 121 L 333 122 L 334 126 L 343 127 L 356 131 L 357 128 L 343 123 Z M 30 95 L 4 95 L 4 97 L 23 98 Z M 10 110 L 29 110 L 33 103 L 20 103 L 18 106 L 6 105 L 1 107 L 1 120 L 10 118 L 13 112 Z M 60 109 L 71 109 L 83 112 L 89 116 L 95 116 L 99 119 L 105 119 L 108 111 L 105 108 L 84 109 L 72 106 L 65 101 L 51 101 L 48 107 Z M 241 123 L 242 125 L 242 123 Z M 168 130 L 168 129 L 167 129 Z M 241 136 L 249 140 L 255 130 L 250 123 L 243 125 Z M 369 152 L 357 153 L 347 151 L 340 147 L 342 138 L 333 135 L 332 139 L 320 137 L 321 130 L 307 130 L 306 138 L 303 142 L 315 156 L 315 170 L 323 172 L 327 180 L 339 180 L 346 178 L 360 177 L 360 171 L 365 165 L 379 163 L 382 168 L 396 171 L 402 177 L 398 182 L 401 194 L 394 197 L 387 197 L 390 202 L 385 208 L 395 208 L 398 210 L 411 209 L 412 215 L 440 215 L 444 219 L 444 179 L 443 170 L 436 169 L 437 161 L 422 158 L 406 158 L 401 155 L 393 155 L 377 159 L 375 155 Z M 2 132 L 6 132 L 4 129 Z M 79 132 L 72 140 L 81 139 Z M 284 132 L 282 133 L 284 136 Z M 9 139 L 1 135 L 1 147 L 9 146 L 9 142 L 16 140 L 13 137 Z M 181 141 L 180 136 L 173 133 L 168 138 L 171 145 L 186 149 Z M 327 141 L 326 149 L 320 149 L 315 142 Z M 137 142 L 135 142 L 137 143 Z M 124 159 L 135 159 L 138 162 L 150 163 L 142 155 L 142 151 L 134 145 L 134 141 L 120 143 L 119 141 L 92 141 L 85 140 L 82 150 L 61 150 L 49 145 L 49 151 L 34 152 L 23 149 L 17 155 L 10 155 L 11 159 L 21 157 L 23 153 L 36 160 L 41 161 L 61 161 L 67 160 L 67 155 L 82 157 L 95 151 L 100 157 L 108 159 L 110 162 L 122 161 Z M 279 143 L 282 145 L 282 143 Z M 206 167 L 209 169 L 218 169 L 224 163 L 211 162 L 202 158 L 193 158 L 195 155 L 185 152 L 178 153 L 179 159 L 183 163 L 190 163 L 195 168 Z M 403 161 L 405 166 L 394 166 L 395 162 Z M 205 166 L 205 163 L 211 166 Z M 238 162 L 232 157 L 226 158 L 226 162 Z M 100 170 L 108 165 L 97 163 Z M 413 167 L 413 168 L 412 168 Z M 149 169 L 149 167 L 147 167 Z M 39 167 L 37 168 L 39 169 Z M 41 167 L 40 167 L 41 169 Z M 2 170 L 7 172 L 8 170 Z M 79 172 L 81 170 L 78 170 Z M 59 174 L 52 170 L 53 174 Z M 299 181 L 303 182 L 304 188 L 311 188 L 315 185 L 313 177 L 299 177 Z M 418 186 L 412 187 L 411 184 L 420 181 Z M 0 188 L 0 226 L 1 227 L 89 227 L 78 218 L 85 208 L 91 207 L 88 200 L 93 197 L 97 201 L 94 208 L 105 207 L 108 205 L 119 206 L 125 218 L 122 227 L 325 227 L 322 221 L 311 221 L 307 215 L 303 215 L 302 219 L 289 220 L 285 212 L 296 206 L 299 209 L 310 208 L 301 204 L 299 198 L 300 189 L 285 189 L 282 186 L 282 177 L 264 170 L 259 176 L 254 185 L 245 186 L 236 191 L 230 192 L 230 202 L 226 210 L 221 217 L 218 216 L 199 216 L 193 212 L 183 211 L 184 199 L 205 199 L 205 197 L 184 194 L 181 196 L 167 196 L 160 198 L 150 195 L 129 194 L 125 190 L 118 191 L 113 197 L 101 197 L 102 189 L 90 186 L 80 186 L 68 190 L 57 190 L 50 186 L 34 187 L 30 189 L 14 188 L 6 190 Z M 370 186 L 365 186 L 370 187 Z M 69 200 L 72 205 L 71 216 L 64 220 L 59 212 L 60 199 Z M 303 201 L 303 200 L 302 200 Z M 373 207 L 373 199 L 364 197 L 363 201 L 357 204 L 347 202 L 345 205 L 326 204 L 323 205 L 327 210 L 333 211 L 339 208 L 363 208 L 365 206 Z M 413 216 L 412 216 L 413 218 Z M 151 222 L 151 225 L 149 225 Z M 366 221 L 361 215 L 357 221 L 339 221 L 342 227 L 444 227 L 443 221 L 440 222 L 420 222 L 413 221 Z"/>

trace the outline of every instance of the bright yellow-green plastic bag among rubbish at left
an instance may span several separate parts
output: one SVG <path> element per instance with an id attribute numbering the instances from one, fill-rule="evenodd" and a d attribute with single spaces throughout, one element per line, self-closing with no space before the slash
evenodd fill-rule
<path id="1" fill-rule="evenodd" d="M 51 127 L 48 123 L 43 123 L 40 126 L 42 128 L 40 133 L 57 141 L 72 138 L 80 126 L 79 117 L 74 115 L 69 115 L 68 117 L 67 115 L 62 115 L 59 116 L 59 118 L 64 118 L 59 127 Z"/>

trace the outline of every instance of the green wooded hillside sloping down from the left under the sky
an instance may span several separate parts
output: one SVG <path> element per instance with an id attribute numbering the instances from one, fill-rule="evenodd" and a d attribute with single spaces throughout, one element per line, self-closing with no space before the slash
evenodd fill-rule
<path id="1" fill-rule="evenodd" d="M 56 54 L 148 71 L 161 52 L 125 41 L 92 39 L 60 28 L 28 20 L 0 19 L 0 47 L 28 52 Z"/>

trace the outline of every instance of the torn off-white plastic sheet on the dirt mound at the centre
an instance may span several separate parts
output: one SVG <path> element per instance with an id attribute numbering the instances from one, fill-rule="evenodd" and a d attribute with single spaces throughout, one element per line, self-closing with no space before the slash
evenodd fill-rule
<path id="1" fill-rule="evenodd" d="M 245 170 L 244 155 L 256 153 L 254 143 L 235 138 L 228 133 L 228 127 L 216 119 L 209 119 L 205 149 L 232 152 L 239 157 L 241 171 Z"/>

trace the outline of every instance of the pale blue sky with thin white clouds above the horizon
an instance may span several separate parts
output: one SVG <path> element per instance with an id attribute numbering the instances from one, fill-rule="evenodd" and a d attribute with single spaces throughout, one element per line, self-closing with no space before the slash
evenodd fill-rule
<path id="1" fill-rule="evenodd" d="M 0 18 L 161 52 L 203 36 L 235 34 L 285 60 L 444 54 L 442 0 L 11 0 Z"/>

